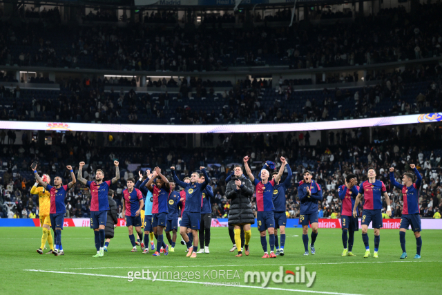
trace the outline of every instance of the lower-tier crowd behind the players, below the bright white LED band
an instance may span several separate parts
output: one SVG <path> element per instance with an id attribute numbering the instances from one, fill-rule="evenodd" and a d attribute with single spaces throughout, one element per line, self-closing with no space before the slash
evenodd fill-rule
<path id="1" fill-rule="evenodd" d="M 376 144 L 369 144 L 367 140 L 364 140 L 361 130 L 336 131 L 336 135 L 329 133 L 330 146 L 327 149 L 322 148 L 320 142 L 311 144 L 309 132 L 307 132 L 289 133 L 285 138 L 282 136 L 282 139 L 278 135 L 262 133 L 242 134 L 240 137 L 220 134 L 218 136 L 222 144 L 216 148 L 207 147 L 193 151 L 181 149 L 177 152 L 178 146 L 186 142 L 184 135 L 154 133 L 149 135 L 151 144 L 148 144 L 148 153 L 145 148 L 137 148 L 136 144 L 130 152 L 127 152 L 127 147 L 96 146 L 95 137 L 91 136 L 93 133 L 77 133 L 76 135 L 64 133 L 61 137 L 57 137 L 61 133 L 52 135 L 53 144 L 45 149 L 50 152 L 44 153 L 39 151 L 34 142 L 29 143 L 26 139 L 23 139 L 25 144 L 21 146 L 13 145 L 12 140 L 5 142 L 6 133 L 3 133 L 1 133 L 3 149 L 0 150 L 0 166 L 3 171 L 0 187 L 0 216 L 3 218 L 38 216 L 38 200 L 35 195 L 30 194 L 30 188 L 35 183 L 29 168 L 33 161 L 39 161 L 40 174 L 48 173 L 52 179 L 55 175 L 61 175 L 66 182 L 69 177 L 69 171 L 64 169 L 66 164 L 75 166 L 74 171 L 77 173 L 78 164 L 75 163 L 84 160 L 87 166 L 83 172 L 84 178 L 93 180 L 95 169 L 103 169 L 107 175 L 113 175 L 112 163 L 116 159 L 120 162 L 122 175 L 113 187 L 117 194 L 115 199 L 118 204 L 118 213 L 122 211 L 122 190 L 126 185 L 126 180 L 133 176 L 137 178 L 138 171 L 141 169 L 160 166 L 164 171 L 168 171 L 170 166 L 175 166 L 177 175 L 184 178 L 184 175 L 189 175 L 203 165 L 208 166 L 210 184 L 215 195 L 212 200 L 212 216 L 225 218 L 230 206 L 229 200 L 224 196 L 225 178 L 231 174 L 233 164 L 241 163 L 240 159 L 244 154 L 250 155 L 255 175 L 266 160 L 275 160 L 280 155 L 289 159 L 289 165 L 294 173 L 291 187 L 286 194 L 286 215 L 289 218 L 296 218 L 299 215 L 297 182 L 302 180 L 302 173 L 307 169 L 314 171 L 314 180 L 323 187 L 323 201 L 320 202 L 318 212 L 320 217 L 339 218 L 341 201 L 338 198 L 338 187 L 343 185 L 343 180 L 349 173 L 355 173 L 358 176 L 358 182 L 366 180 L 369 166 L 376 169 L 377 178 L 382 180 L 387 187 L 392 200 L 394 217 L 401 216 L 403 200 L 401 192 L 390 185 L 390 166 L 396 168 L 396 180 L 401 182 L 402 173 L 410 170 L 407 168 L 409 164 L 416 164 L 423 176 L 419 197 L 422 217 L 438 218 L 440 216 L 438 212 L 442 209 L 442 150 L 428 149 L 440 146 L 442 133 L 439 128 L 433 129 L 431 126 L 419 133 L 415 128 L 410 129 L 401 141 L 398 140 L 393 130 L 378 129 L 373 134 Z M 8 132 L 8 138 L 9 136 L 13 137 L 12 131 Z M 26 136 L 23 135 L 23 137 Z M 385 140 L 386 138 L 389 140 Z M 426 147 L 422 146 L 421 139 L 432 143 Z M 128 144 L 128 142 L 130 138 L 125 137 L 123 143 Z M 155 142 L 162 142 L 162 145 L 155 146 L 153 144 Z M 206 135 L 203 142 L 207 146 L 213 145 L 213 135 Z M 249 144 L 244 145 L 243 142 L 249 142 Z M 287 149 L 287 146 L 290 146 L 290 149 Z M 349 148 L 349 146 L 353 147 Z M 168 174 L 170 175 L 170 171 Z M 90 193 L 79 184 L 69 191 L 65 202 L 66 216 L 78 218 L 89 216 Z M 251 199 L 251 203 L 256 213 L 255 196 Z M 383 209 L 385 213 L 385 200 L 383 207 L 385 207 Z M 362 211 L 362 205 L 359 206 L 359 211 Z M 385 214 L 384 217 L 387 218 L 387 215 Z"/>

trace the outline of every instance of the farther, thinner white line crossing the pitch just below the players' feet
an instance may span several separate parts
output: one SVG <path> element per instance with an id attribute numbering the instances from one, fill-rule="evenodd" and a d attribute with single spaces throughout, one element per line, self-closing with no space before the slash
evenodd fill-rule
<path id="1" fill-rule="evenodd" d="M 363 264 L 363 263 L 440 263 L 440 261 L 422 261 L 422 260 L 405 260 L 405 261 L 367 261 L 356 263 L 280 263 L 277 265 L 199 265 L 198 267 L 244 267 L 244 266 L 280 266 L 280 265 L 347 265 L 347 264 Z M 122 268 L 160 268 L 160 267 L 189 267 L 189 265 L 163 265 L 163 266 L 136 266 L 136 267 L 76 267 L 76 268 L 48 268 L 50 270 L 69 270 L 69 269 L 122 269 Z"/>

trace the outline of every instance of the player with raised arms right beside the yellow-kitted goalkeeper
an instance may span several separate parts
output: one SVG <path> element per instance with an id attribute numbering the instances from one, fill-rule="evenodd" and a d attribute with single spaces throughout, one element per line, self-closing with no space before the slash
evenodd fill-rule
<path id="1" fill-rule="evenodd" d="M 64 225 L 64 213 L 66 213 L 66 207 L 64 206 L 64 199 L 66 198 L 66 193 L 68 193 L 68 190 L 74 186 L 76 180 L 75 180 L 75 174 L 72 169 L 72 166 L 66 166 L 67 169 L 70 170 L 70 177 L 72 178 L 72 181 L 68 183 L 68 185 L 63 185 L 63 180 L 61 180 L 61 177 L 56 176 L 54 178 L 54 186 L 52 187 L 47 182 L 43 182 L 37 173 L 37 166 L 35 166 L 35 169 L 32 169 L 34 171 L 35 179 L 41 187 L 44 187 L 47 189 L 50 193 L 50 224 L 52 225 L 52 230 L 54 231 L 55 236 L 55 249 L 52 251 L 52 254 L 55 256 L 64 255 L 63 247 L 61 247 L 61 230 L 63 229 Z M 61 249 L 60 249 L 61 247 Z"/>

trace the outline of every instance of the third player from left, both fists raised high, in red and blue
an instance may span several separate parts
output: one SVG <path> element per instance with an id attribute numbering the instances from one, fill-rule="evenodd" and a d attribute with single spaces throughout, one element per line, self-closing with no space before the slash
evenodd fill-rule
<path id="1" fill-rule="evenodd" d="M 97 169 L 95 172 L 95 181 L 88 181 L 84 179 L 84 164 L 84 162 L 80 162 L 79 164 L 78 181 L 90 189 L 90 228 L 94 230 L 95 249 L 97 249 L 97 254 L 95 254 L 93 257 L 103 257 L 104 241 L 106 240 L 104 228 L 106 227 L 106 219 L 108 216 L 107 211 L 109 210 L 109 187 L 111 187 L 111 184 L 115 184 L 119 180 L 119 163 L 118 161 L 113 162 L 115 165 L 115 178 L 105 182 L 103 181 L 104 172 L 101 169 Z"/>

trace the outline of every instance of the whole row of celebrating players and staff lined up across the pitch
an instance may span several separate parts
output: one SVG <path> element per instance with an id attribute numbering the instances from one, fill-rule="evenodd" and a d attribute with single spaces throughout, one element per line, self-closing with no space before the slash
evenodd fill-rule
<path id="1" fill-rule="evenodd" d="M 230 200 L 229 210 L 229 234 L 233 242 L 233 248 L 238 250 L 236 257 L 241 257 L 244 251 L 246 256 L 250 254 L 249 242 L 251 239 L 251 225 L 257 222 L 260 231 L 260 240 L 264 256 L 262 258 L 276 258 L 284 256 L 285 226 L 287 225 L 286 191 L 291 185 L 292 172 L 285 158 L 280 158 L 280 168 L 275 171 L 276 164 L 267 161 L 262 167 L 258 178 L 253 176 L 249 167 L 249 157 L 244 157 L 244 169 L 248 178 L 245 177 L 242 166 L 234 166 L 233 173 L 226 179 L 227 187 L 225 196 Z M 50 176 L 43 175 L 40 178 L 37 166 L 32 166 L 37 182 L 31 189 L 31 193 L 39 195 L 40 223 L 43 231 L 41 247 L 37 253 L 43 254 L 43 249 L 48 241 L 50 251 L 46 254 L 55 256 L 64 255 L 61 245 L 61 230 L 64 225 L 66 208 L 64 200 L 69 189 L 77 180 L 90 189 L 90 228 L 95 234 L 95 248 L 97 254 L 93 257 L 104 256 L 108 251 L 109 241 L 113 238 L 106 236 L 105 227 L 110 212 L 110 202 L 113 191 L 110 187 L 119 180 L 118 162 L 114 161 L 115 177 L 104 181 L 104 171 L 98 169 L 95 173 L 95 181 L 91 182 L 82 177 L 84 162 L 79 163 L 77 179 L 72 166 L 66 166 L 70 170 L 72 180 L 63 185 L 62 179 L 54 178 L 53 186 L 50 185 Z M 403 215 L 399 238 L 403 254 L 401 259 L 407 258 L 405 250 L 405 231 L 411 226 L 416 237 L 416 256 L 421 258 L 421 218 L 419 216 L 419 188 L 421 187 L 421 175 L 414 164 L 410 165 L 414 171 L 404 173 L 402 184 L 394 179 L 394 168 L 390 168 L 390 181 L 394 187 L 401 189 L 403 194 Z M 287 169 L 287 177 L 281 182 L 282 174 Z M 140 179 L 128 178 L 127 189 L 123 191 L 123 209 L 126 226 L 128 227 L 129 240 L 133 249 L 137 251 L 140 245 L 144 254 L 148 253 L 148 246 L 155 249 L 153 238 L 157 240 L 156 251 L 153 256 L 168 255 L 169 251 L 175 251 L 177 238 L 178 220 L 181 216 L 180 235 L 182 244 L 186 245 L 186 256 L 196 258 L 197 253 L 209 253 L 210 229 L 211 229 L 211 198 L 213 191 L 209 185 L 209 175 L 203 166 L 201 173 L 193 172 L 191 177 L 180 180 L 175 167 L 171 167 L 172 179 L 166 178 L 159 167 L 146 169 L 146 174 L 139 173 Z M 310 253 L 316 254 L 315 242 L 318 237 L 318 202 L 323 200 L 323 190 L 314 179 L 311 171 L 305 171 L 303 179 L 298 183 L 298 198 L 300 200 L 299 223 L 302 225 L 302 242 L 305 248 L 305 256 Z M 416 177 L 416 182 L 414 178 Z M 361 198 L 364 198 L 363 212 L 361 216 L 362 239 L 365 245 L 364 258 L 371 256 L 369 249 L 369 237 L 367 229 L 372 223 L 374 229 L 374 252 L 373 257 L 378 258 L 380 244 L 380 229 L 383 227 L 381 209 L 383 207 L 381 197 L 385 197 L 387 214 L 391 216 L 390 198 L 385 184 L 376 180 L 376 171 L 369 168 L 367 178 L 357 185 L 357 177 L 350 173 L 345 177 L 345 184 L 338 188 L 340 200 L 342 200 L 341 226 L 344 251 L 342 256 L 356 256 L 352 253 L 354 245 L 354 232 L 358 231 L 357 207 Z M 40 186 L 40 187 L 39 187 Z M 175 191 L 175 186 L 182 187 L 180 192 Z M 254 188 L 253 188 L 254 187 Z M 251 198 L 256 196 L 256 219 L 251 207 Z M 116 223 L 117 218 L 115 218 Z M 309 244 L 308 227 L 311 227 L 311 242 Z M 134 227 L 137 234 L 135 240 Z M 54 242 L 52 234 L 54 233 Z M 278 242 L 278 229 L 280 240 Z M 164 242 L 164 232 L 169 245 Z M 172 235 L 171 235 L 172 232 Z M 270 251 L 267 248 L 267 233 L 269 234 Z M 143 235 L 144 234 L 144 235 Z M 143 238 L 144 236 L 144 238 Z M 106 240 L 107 239 L 107 240 Z M 280 244 L 280 245 L 278 245 Z M 198 245 L 201 249 L 198 251 Z M 310 248 L 310 251 L 309 251 Z"/>

